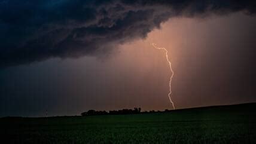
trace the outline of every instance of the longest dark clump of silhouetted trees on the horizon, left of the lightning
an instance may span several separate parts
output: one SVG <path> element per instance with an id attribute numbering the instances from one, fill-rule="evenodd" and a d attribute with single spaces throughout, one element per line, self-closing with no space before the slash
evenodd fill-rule
<path id="1" fill-rule="evenodd" d="M 87 112 L 83 112 L 81 115 L 127 115 L 127 114 L 139 114 L 141 113 L 141 108 L 134 108 L 134 109 L 120 109 L 120 110 L 114 110 L 114 111 L 95 111 L 95 110 L 89 110 Z"/>

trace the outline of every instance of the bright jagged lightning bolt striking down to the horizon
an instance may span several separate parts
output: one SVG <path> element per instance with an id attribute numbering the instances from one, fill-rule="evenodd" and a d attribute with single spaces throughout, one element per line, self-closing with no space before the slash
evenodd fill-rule
<path id="1" fill-rule="evenodd" d="M 172 103 L 173 109 L 175 109 L 174 103 L 172 102 L 172 99 L 170 98 L 170 96 L 172 95 L 172 78 L 173 78 L 174 72 L 173 72 L 173 70 L 172 70 L 172 63 L 170 63 L 170 60 L 169 60 L 169 58 L 168 58 L 168 51 L 166 50 L 166 48 L 157 47 L 156 44 L 154 44 L 154 43 L 152 43 L 151 45 L 153 45 L 153 47 L 156 48 L 156 49 L 158 49 L 158 50 L 164 50 L 164 51 L 165 51 L 166 60 L 167 60 L 167 62 L 169 63 L 170 72 L 172 73 L 172 74 L 170 75 L 169 94 L 168 94 L 168 97 L 169 97 L 170 103 Z"/>

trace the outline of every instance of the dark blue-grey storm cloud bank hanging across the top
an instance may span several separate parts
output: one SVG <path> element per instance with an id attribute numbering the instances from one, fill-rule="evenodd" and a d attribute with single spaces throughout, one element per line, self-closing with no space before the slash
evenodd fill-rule
<path id="1" fill-rule="evenodd" d="M 170 17 L 245 11 L 255 1 L 0 0 L 0 67 L 80 57 L 145 38 Z"/>

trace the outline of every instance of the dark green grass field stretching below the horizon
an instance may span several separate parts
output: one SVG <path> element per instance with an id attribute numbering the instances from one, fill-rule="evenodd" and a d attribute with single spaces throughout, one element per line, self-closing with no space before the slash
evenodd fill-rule
<path id="1" fill-rule="evenodd" d="M 256 143 L 256 103 L 134 115 L 1 118 L 1 143 Z"/>

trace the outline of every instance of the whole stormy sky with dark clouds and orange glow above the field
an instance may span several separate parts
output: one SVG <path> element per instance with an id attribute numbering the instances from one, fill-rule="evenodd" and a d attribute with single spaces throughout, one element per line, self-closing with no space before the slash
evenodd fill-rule
<path id="1" fill-rule="evenodd" d="M 1 117 L 172 109 L 152 42 L 177 109 L 256 102 L 255 2 L 18 3 L 0 0 Z"/>

